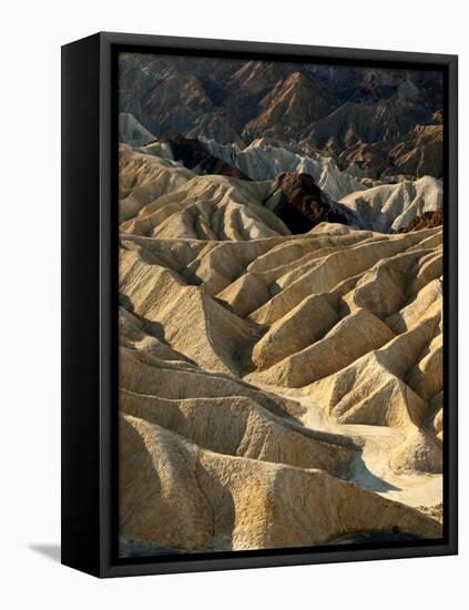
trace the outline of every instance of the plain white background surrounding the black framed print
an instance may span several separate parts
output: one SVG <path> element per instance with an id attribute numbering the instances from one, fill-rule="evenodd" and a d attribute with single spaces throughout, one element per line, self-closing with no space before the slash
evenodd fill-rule
<path id="1" fill-rule="evenodd" d="M 469 573 L 465 3 L 460 0 L 6 2 L 0 71 L 2 607 L 462 608 Z M 99 30 L 460 55 L 460 556 L 99 581 L 60 540 L 60 45 Z M 41 550 L 42 549 L 42 550 Z M 44 553 L 45 551 L 45 553 Z M 458 601 L 460 600 L 460 601 Z M 466 600 L 466 601 L 465 601 Z M 103 606 L 102 606 L 103 607 Z"/>

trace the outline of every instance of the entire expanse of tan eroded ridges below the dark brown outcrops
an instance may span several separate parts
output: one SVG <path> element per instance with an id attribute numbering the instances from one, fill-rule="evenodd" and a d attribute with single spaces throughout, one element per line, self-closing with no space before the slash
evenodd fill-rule
<path id="1" fill-rule="evenodd" d="M 442 227 L 292 235 L 274 181 L 150 146 L 121 151 L 124 539 L 441 537 Z"/>

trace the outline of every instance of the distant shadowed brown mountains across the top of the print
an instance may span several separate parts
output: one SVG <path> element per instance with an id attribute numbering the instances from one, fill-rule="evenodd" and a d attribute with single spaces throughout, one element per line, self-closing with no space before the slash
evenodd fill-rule
<path id="1" fill-rule="evenodd" d="M 303 142 L 345 165 L 355 163 L 350 148 L 367 144 L 373 177 L 442 175 L 439 72 L 135 53 L 120 61 L 120 109 L 155 138 Z"/>

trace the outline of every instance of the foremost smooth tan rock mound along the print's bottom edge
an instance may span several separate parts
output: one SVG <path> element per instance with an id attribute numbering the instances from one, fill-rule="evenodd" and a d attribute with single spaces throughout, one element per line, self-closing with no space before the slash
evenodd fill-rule
<path id="1" fill-rule="evenodd" d="M 441 526 L 323 470 L 202 449 L 144 419 L 121 424 L 120 521 L 133 540 L 182 550 L 320 545 L 349 531 L 428 538 Z"/>

